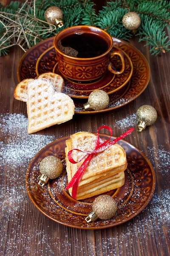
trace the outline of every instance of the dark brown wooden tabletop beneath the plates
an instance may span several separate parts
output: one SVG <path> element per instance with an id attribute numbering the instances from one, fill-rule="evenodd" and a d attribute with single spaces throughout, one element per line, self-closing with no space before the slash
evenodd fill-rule
<path id="1" fill-rule="evenodd" d="M 1 2 L 7 4 L 10 1 Z M 105 1 L 96 1 L 96 3 L 101 8 Z M 170 188 L 168 173 L 170 169 L 170 54 L 161 54 L 157 57 L 150 55 L 149 47 L 144 47 L 144 43 L 139 43 L 138 38 L 133 38 L 130 43 L 145 55 L 151 69 L 150 83 L 139 98 L 115 111 L 87 116 L 75 115 L 71 121 L 47 128 L 38 132 L 37 135 L 54 135 L 55 138 L 59 138 L 77 131 L 96 132 L 99 126 L 108 125 L 113 129 L 113 135 L 119 136 L 131 126 L 127 123 L 127 117 L 134 119 L 134 114 L 140 106 L 152 105 L 158 113 L 156 123 L 147 127 L 142 133 L 135 131 L 126 140 L 144 152 L 153 164 L 156 172 L 156 190 L 153 200 L 138 216 L 117 227 L 103 230 L 79 230 L 66 227 L 45 217 L 31 203 L 25 187 L 26 169 L 31 158 L 27 157 L 22 163 L 21 156 L 20 165 L 14 165 L 12 161 L 10 165 L 2 160 L 0 164 L 0 255 L 170 255 L 170 247 L 168 247 L 170 242 L 170 218 L 168 215 L 168 198 L 170 199 L 168 196 Z M 8 119 L 7 113 L 10 113 L 10 116 L 20 113 L 27 117 L 26 103 L 17 101 L 13 97 L 13 90 L 17 84 L 17 64 L 22 55 L 22 49 L 12 47 L 7 56 L 0 57 L 1 122 Z M 124 125 L 123 122 L 120 122 L 123 119 L 125 120 Z M 115 127 L 116 121 L 119 125 Z M 1 123 L 1 125 L 4 124 Z M 134 120 L 132 126 L 135 127 Z M 1 159 L 6 154 L 6 145 L 13 140 L 12 136 L 14 135 L 9 131 L 0 133 L 0 141 L 4 143 L 0 144 Z M 26 134 L 21 134 L 20 141 L 25 139 Z M 10 154 L 10 151 L 8 153 Z M 15 168 L 15 166 L 18 167 Z"/>

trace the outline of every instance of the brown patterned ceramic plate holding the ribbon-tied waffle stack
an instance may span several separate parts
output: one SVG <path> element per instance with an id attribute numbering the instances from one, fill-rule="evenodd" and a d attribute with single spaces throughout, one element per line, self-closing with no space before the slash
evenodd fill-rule
<path id="1" fill-rule="evenodd" d="M 100 134 L 102 139 L 108 135 Z M 65 169 L 65 141 L 62 137 L 46 145 L 31 161 L 26 174 L 26 188 L 31 201 L 47 217 L 69 227 L 82 229 L 101 229 L 122 224 L 134 218 L 149 203 L 155 189 L 155 172 L 147 157 L 130 143 L 124 140 L 118 143 L 125 149 L 127 155 L 127 170 L 125 185 L 111 190 L 111 195 L 117 203 L 116 215 L 106 221 L 98 219 L 87 223 L 85 217 L 91 211 L 91 204 L 97 197 L 76 201 L 65 191 L 67 174 Z M 111 137 L 111 140 L 115 137 Z M 62 159 L 63 172 L 60 177 L 50 180 L 44 187 L 38 185 L 40 177 L 39 164 L 44 157 L 54 155 Z"/>

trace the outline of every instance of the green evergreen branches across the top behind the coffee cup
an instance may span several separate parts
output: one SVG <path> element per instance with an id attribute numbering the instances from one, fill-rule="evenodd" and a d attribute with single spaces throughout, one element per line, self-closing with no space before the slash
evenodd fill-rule
<path id="1" fill-rule="evenodd" d="M 0 11 L 10 14 L 16 14 L 20 6 L 20 2 L 11 2 L 4 7 L 0 4 Z M 141 25 L 136 35 L 139 35 L 140 41 L 147 41 L 146 45 L 150 46 L 152 54 L 169 51 L 170 40 L 164 31 L 168 23 L 170 23 L 170 1 L 167 0 L 114 0 L 103 6 L 99 14 L 96 15 L 94 2 L 92 0 L 36 0 L 36 17 L 45 21 L 45 11 L 48 7 L 58 6 L 63 13 L 62 28 L 57 27 L 54 32 L 40 35 L 38 24 L 33 23 L 34 29 L 37 30 L 36 42 L 51 37 L 69 26 L 79 24 L 98 26 L 107 31 L 111 36 L 128 40 L 134 34 L 125 29 L 122 24 L 122 18 L 127 12 L 137 12 L 141 17 Z M 28 11 L 29 20 L 34 15 L 33 9 Z M 11 16 L 12 17 L 12 16 Z M 15 17 L 12 17 L 13 19 Z M 5 20 L 3 20 L 5 24 Z M 22 23 L 22 19 L 21 19 Z M 168 28 L 168 27 L 167 27 Z M 30 28 L 31 29 L 31 28 Z M 4 27 L 0 24 L 0 35 L 4 33 Z M 40 36 L 39 36 L 40 35 Z M 28 35 L 29 44 L 34 45 L 34 36 Z M 10 40 L 6 41 L 3 47 L 10 47 Z M 8 48 L 0 50 L 0 54 L 7 54 Z"/>

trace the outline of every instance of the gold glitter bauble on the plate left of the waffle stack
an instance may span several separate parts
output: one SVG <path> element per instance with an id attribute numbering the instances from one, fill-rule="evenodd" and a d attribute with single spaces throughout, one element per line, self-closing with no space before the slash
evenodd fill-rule
<path id="1" fill-rule="evenodd" d="M 49 179 L 55 179 L 62 173 L 62 162 L 57 157 L 49 156 L 42 159 L 40 163 L 39 185 L 44 186 Z"/>

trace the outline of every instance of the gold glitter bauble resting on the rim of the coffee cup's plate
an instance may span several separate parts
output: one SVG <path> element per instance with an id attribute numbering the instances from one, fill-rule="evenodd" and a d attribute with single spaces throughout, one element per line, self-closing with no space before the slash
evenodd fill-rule
<path id="1" fill-rule="evenodd" d="M 94 90 L 88 97 L 88 102 L 84 104 L 84 111 L 91 109 L 97 111 L 105 109 L 109 104 L 109 96 L 103 90 Z"/>

